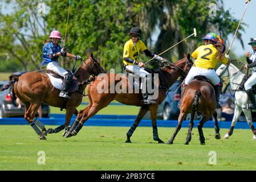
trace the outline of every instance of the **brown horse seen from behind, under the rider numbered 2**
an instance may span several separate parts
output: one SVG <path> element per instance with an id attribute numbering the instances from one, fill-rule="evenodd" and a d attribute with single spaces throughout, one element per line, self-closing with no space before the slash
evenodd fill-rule
<path id="1" fill-rule="evenodd" d="M 202 76 L 200 76 L 202 77 Z M 190 123 L 188 136 L 186 138 L 185 144 L 189 144 L 191 140 L 191 133 L 194 126 L 194 115 L 196 111 L 201 113 L 202 118 L 198 123 L 198 133 L 199 140 L 201 144 L 205 144 L 205 138 L 202 131 L 202 127 L 204 123 L 213 117 L 214 119 L 214 129 L 215 129 L 215 138 L 220 139 L 220 127 L 218 126 L 217 113 L 216 109 L 216 98 L 215 92 L 212 84 L 205 80 L 206 77 L 198 78 L 196 80 L 191 81 L 188 86 L 186 86 L 184 91 L 184 96 L 181 99 L 180 106 L 180 115 L 178 116 L 178 124 L 176 126 L 176 130 L 168 141 L 168 144 L 173 144 L 173 140 L 176 137 L 178 131 L 181 129 L 181 123 L 186 117 L 186 114 L 190 113 Z"/>

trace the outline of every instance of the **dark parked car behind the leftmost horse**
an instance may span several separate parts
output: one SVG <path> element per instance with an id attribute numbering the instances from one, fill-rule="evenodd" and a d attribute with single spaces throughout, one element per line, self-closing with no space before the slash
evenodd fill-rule
<path id="1" fill-rule="evenodd" d="M 25 72 L 15 72 L 10 76 L 19 76 Z M 6 85 L 8 81 L 0 82 L 0 88 Z M 13 86 L 10 86 L 9 89 L 0 91 L 0 118 L 4 117 L 24 117 L 25 114 L 25 106 L 22 105 L 21 108 L 18 108 L 18 104 L 16 102 L 17 97 L 14 94 Z M 36 112 L 36 117 L 38 117 L 38 113 Z M 49 118 L 50 117 L 50 107 L 46 104 L 42 104 L 42 117 Z"/>

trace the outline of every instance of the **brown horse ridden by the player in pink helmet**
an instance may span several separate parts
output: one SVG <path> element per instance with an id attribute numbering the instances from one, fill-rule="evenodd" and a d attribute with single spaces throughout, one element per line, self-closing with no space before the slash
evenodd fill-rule
<path id="1" fill-rule="evenodd" d="M 82 102 L 83 92 L 87 86 L 88 78 L 90 75 L 96 76 L 103 72 L 105 72 L 104 69 L 100 66 L 99 61 L 97 61 L 94 55 L 92 53 L 91 56 L 87 55 L 87 60 L 82 60 L 82 66 L 74 73 L 75 83 L 77 84 L 75 86 L 78 87 L 78 90 L 70 93 L 68 100 L 64 100 L 58 96 L 60 90 L 51 84 L 50 78 L 46 73 L 27 72 L 10 81 L 5 86 L 5 89 L 8 89 L 10 85 L 14 84 L 15 94 L 25 105 L 25 119 L 36 131 L 36 134 L 39 135 L 39 139 L 44 140 L 46 139 L 45 136 L 47 133 L 58 133 L 63 129 L 68 130 L 70 128 L 68 126 L 70 125 L 72 115 L 78 115 L 76 107 Z M 35 118 L 35 112 L 42 102 L 50 106 L 66 109 L 65 124 L 56 127 L 56 129 L 48 129 L 46 131 L 43 123 Z"/>

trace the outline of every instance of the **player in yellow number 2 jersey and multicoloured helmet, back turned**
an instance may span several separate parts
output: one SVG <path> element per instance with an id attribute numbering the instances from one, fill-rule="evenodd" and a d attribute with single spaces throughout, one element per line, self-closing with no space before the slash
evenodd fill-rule
<path id="1" fill-rule="evenodd" d="M 225 46 L 223 41 L 215 33 L 211 32 L 204 38 L 204 46 L 200 46 L 192 53 L 194 57 L 194 65 L 190 69 L 188 76 L 186 76 L 184 84 L 182 85 L 181 95 L 183 95 L 185 86 L 193 80 L 197 75 L 203 75 L 208 78 L 214 85 L 216 93 L 217 108 L 221 108 L 220 105 L 220 94 L 221 94 L 221 80 L 215 72 L 215 67 L 218 61 L 223 64 L 230 64 L 229 55 L 225 54 Z M 182 97 L 182 96 L 181 96 Z"/>

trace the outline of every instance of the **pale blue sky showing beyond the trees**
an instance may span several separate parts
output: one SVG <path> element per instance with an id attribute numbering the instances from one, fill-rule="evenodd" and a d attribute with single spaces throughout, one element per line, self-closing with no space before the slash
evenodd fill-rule
<path id="1" fill-rule="evenodd" d="M 243 11 L 246 7 L 246 0 L 223 0 L 224 1 L 224 9 L 230 10 L 230 13 L 237 19 L 241 19 Z M 1 3 L 1 2 L 0 2 Z M 255 23 L 255 7 L 256 0 L 251 0 L 249 6 L 247 7 L 245 16 L 243 16 L 243 23 L 246 23 L 245 32 L 242 32 L 242 40 L 245 44 L 245 49 L 242 48 L 240 42 L 235 39 L 233 46 L 231 47 L 231 51 L 233 51 L 237 56 L 245 55 L 246 51 L 252 52 L 251 46 L 247 43 L 250 42 L 250 38 L 256 37 L 256 23 Z M 8 10 L 2 9 L 2 13 L 8 13 L 10 11 L 10 7 Z M 233 36 L 230 35 L 228 37 L 228 41 L 231 43 Z M 154 38 L 153 38 L 154 39 Z M 229 45 L 227 45 L 229 47 Z"/>

